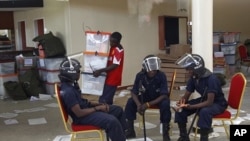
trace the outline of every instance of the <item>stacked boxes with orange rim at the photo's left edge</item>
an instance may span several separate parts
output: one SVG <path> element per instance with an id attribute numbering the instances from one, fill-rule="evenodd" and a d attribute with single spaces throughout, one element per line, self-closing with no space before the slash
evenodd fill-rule
<path id="1" fill-rule="evenodd" d="M 0 99 L 9 97 L 4 87 L 4 82 L 7 81 L 18 81 L 18 76 L 15 72 L 15 61 L 0 62 Z"/>

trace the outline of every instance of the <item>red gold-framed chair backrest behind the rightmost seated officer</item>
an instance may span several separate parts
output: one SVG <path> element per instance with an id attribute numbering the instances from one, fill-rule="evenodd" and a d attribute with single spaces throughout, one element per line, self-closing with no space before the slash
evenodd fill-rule
<path id="1" fill-rule="evenodd" d="M 242 99 L 245 93 L 246 83 L 246 78 L 241 72 L 238 72 L 232 76 L 228 94 L 228 105 L 231 108 L 240 110 Z"/>

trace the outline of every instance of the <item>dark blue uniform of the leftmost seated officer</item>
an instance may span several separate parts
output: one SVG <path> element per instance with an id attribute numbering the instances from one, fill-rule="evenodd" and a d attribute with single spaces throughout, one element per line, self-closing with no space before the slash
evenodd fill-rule
<path id="1" fill-rule="evenodd" d="M 89 108 L 90 104 L 87 99 L 81 98 L 81 91 L 79 86 L 71 83 L 61 84 L 61 95 L 65 108 L 72 117 L 73 122 L 83 125 L 95 125 L 105 129 L 107 135 L 112 141 L 125 141 L 124 130 L 126 129 L 126 122 L 123 109 L 116 105 L 109 105 L 109 112 L 93 112 L 85 117 L 77 117 L 71 108 L 79 104 L 82 109 Z"/>

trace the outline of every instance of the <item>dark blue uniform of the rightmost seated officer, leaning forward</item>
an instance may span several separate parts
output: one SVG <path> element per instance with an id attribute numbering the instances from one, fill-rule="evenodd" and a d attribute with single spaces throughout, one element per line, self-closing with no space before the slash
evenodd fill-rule
<path id="1" fill-rule="evenodd" d="M 201 108 L 198 113 L 198 127 L 210 129 L 212 125 L 212 117 L 216 114 L 222 113 L 227 107 L 227 101 L 224 97 L 219 79 L 214 74 L 200 79 L 194 79 L 191 77 L 187 82 L 186 90 L 191 93 L 197 91 L 201 97 L 205 95 L 203 101 L 206 99 L 206 95 L 208 93 L 215 94 L 213 104 L 208 107 Z M 190 105 L 200 103 L 201 97 L 189 100 L 188 103 Z M 181 112 L 175 113 L 175 122 L 187 123 L 187 117 L 195 112 L 196 109 L 188 110 L 184 108 Z"/>

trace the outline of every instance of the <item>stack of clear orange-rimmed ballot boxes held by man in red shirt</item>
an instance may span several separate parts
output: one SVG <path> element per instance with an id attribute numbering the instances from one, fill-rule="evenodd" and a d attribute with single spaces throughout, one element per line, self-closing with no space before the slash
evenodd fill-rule
<path id="1" fill-rule="evenodd" d="M 106 74 L 94 77 L 93 72 L 107 66 L 110 33 L 86 32 L 86 51 L 83 57 L 82 93 L 101 95 L 106 79 Z"/>

